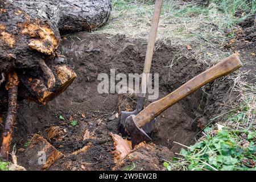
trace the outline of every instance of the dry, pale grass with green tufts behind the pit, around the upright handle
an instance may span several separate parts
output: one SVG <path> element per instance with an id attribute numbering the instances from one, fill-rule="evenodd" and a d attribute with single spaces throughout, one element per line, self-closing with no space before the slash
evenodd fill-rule
<path id="1" fill-rule="evenodd" d="M 226 40 L 234 36 L 230 34 L 227 37 L 224 30 L 230 28 L 233 32 L 237 23 L 253 15 L 255 2 L 210 0 L 208 5 L 199 6 L 193 1 L 164 1 L 157 42 L 180 47 L 184 51 L 179 54 L 185 53 L 185 56 L 195 57 L 204 65 L 212 65 L 230 54 L 220 49 Z M 112 4 L 108 23 L 96 33 L 123 34 L 131 39 L 147 40 L 154 1 L 112 0 Z M 234 10 L 240 9 L 241 13 L 235 14 Z M 187 45 L 192 47 L 192 51 L 186 51 Z"/>

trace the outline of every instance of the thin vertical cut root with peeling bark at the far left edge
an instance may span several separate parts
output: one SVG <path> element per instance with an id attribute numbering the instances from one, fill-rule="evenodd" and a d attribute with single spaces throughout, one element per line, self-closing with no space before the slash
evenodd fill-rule
<path id="1" fill-rule="evenodd" d="M 8 160 L 8 153 L 11 143 L 11 134 L 13 133 L 13 125 L 16 119 L 17 112 L 17 94 L 18 94 L 19 79 L 15 72 L 8 74 L 8 82 L 6 89 L 8 90 L 9 104 L 5 130 L 3 131 L 3 142 L 1 147 L 1 155 Z"/>

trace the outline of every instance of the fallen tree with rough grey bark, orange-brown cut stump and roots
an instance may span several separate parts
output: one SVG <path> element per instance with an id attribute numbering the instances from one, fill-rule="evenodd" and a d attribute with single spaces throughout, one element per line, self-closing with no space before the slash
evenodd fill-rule
<path id="1" fill-rule="evenodd" d="M 64 92 L 76 73 L 61 55 L 60 34 L 98 28 L 110 10 L 109 0 L 0 0 L 0 113 L 8 105 L 7 115 L 10 107 L 16 108 L 16 103 L 10 104 L 16 94 L 46 104 Z M 19 85 L 10 87 L 14 77 Z M 8 123 L 14 121 L 11 117 Z M 11 131 L 12 126 L 5 127 L 3 135 L 11 136 Z M 5 143 L 1 154 L 8 148 Z"/>

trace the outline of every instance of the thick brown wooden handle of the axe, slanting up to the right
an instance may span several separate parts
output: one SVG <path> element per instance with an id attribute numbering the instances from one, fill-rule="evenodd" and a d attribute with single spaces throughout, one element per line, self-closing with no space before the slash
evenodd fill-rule
<path id="1" fill-rule="evenodd" d="M 220 61 L 220 63 L 207 69 L 203 73 L 200 73 L 200 75 L 193 77 L 191 80 L 186 82 L 184 85 L 181 85 L 178 89 L 174 90 L 174 92 L 168 94 L 166 97 L 152 102 L 146 107 L 146 109 L 142 110 L 141 113 L 136 115 L 134 122 L 138 127 L 146 125 L 146 123 L 158 117 L 159 114 L 161 114 L 168 107 L 174 105 L 176 102 L 187 97 L 189 94 L 195 92 L 209 82 L 212 82 L 213 80 L 216 80 L 222 76 L 229 75 L 229 73 L 236 71 L 241 66 L 242 63 L 236 54 L 227 57 L 226 59 Z"/>

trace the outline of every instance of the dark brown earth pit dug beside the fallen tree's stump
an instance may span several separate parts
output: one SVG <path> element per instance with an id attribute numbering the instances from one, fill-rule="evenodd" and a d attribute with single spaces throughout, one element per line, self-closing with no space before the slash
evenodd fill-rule
<path id="1" fill-rule="evenodd" d="M 180 150 L 181 146 L 174 141 L 189 146 L 209 118 L 224 113 L 224 105 L 229 105 L 235 98 L 229 93 L 232 82 L 226 78 L 197 90 L 156 118 L 152 136 L 155 145 L 136 151 L 142 158 L 138 158 L 139 162 L 125 160 L 116 167 L 110 133 L 118 134 L 118 108 L 125 109 L 126 106 L 118 103 L 118 94 L 99 94 L 97 86 L 100 81 L 97 77 L 100 73 L 110 75 L 110 69 L 115 69 L 115 73 L 140 74 L 146 55 L 146 41 L 121 35 L 81 32 L 64 37 L 61 50 L 77 73 L 73 84 L 46 106 L 19 101 L 13 144 L 16 143 L 18 148 L 19 164 L 27 169 L 37 169 L 30 164 L 30 157 L 24 152 L 35 133 L 48 137 L 48 142 L 65 155 L 49 169 L 112 170 L 127 169 L 131 164 L 133 169 L 162 169 L 163 159 L 170 160 L 174 152 Z M 151 72 L 159 73 L 159 98 L 205 69 L 199 61 L 182 53 L 177 56 L 177 52 L 179 48 L 161 42 L 156 44 Z M 167 67 L 172 59 L 172 67 Z M 136 101 L 130 99 L 130 103 L 134 107 Z M 52 126 L 63 129 L 63 135 L 47 136 Z M 88 146 L 86 151 L 73 153 L 85 146 Z"/>

